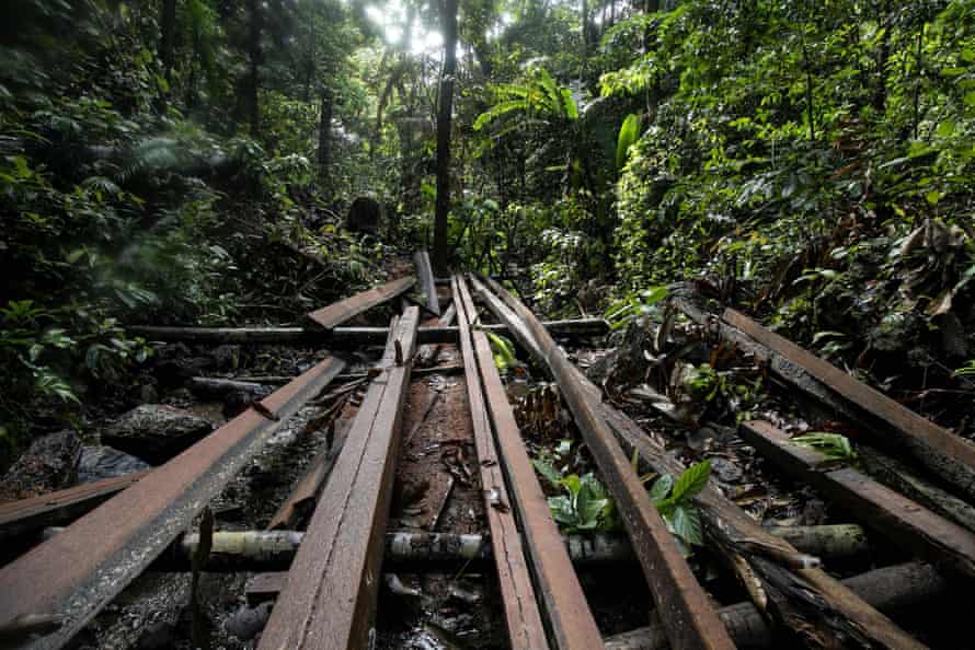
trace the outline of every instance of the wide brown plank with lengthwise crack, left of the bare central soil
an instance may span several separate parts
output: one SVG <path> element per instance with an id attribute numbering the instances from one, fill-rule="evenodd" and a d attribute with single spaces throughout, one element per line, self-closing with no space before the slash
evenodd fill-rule
<path id="1" fill-rule="evenodd" d="M 408 309 L 356 414 L 260 648 L 365 648 L 420 311 Z"/>

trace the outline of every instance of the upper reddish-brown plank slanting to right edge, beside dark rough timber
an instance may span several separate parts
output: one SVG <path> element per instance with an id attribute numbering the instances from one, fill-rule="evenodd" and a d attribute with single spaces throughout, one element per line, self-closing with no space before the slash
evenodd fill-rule
<path id="1" fill-rule="evenodd" d="M 769 332 L 748 316 L 726 309 L 722 320 L 826 384 L 859 409 L 887 425 L 901 445 L 934 476 L 975 498 L 975 445 L 897 404 L 831 363 Z"/>

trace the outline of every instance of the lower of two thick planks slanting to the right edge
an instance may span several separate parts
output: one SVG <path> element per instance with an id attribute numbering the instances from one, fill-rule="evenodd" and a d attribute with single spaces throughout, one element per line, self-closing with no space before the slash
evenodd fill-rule
<path id="1" fill-rule="evenodd" d="M 824 454 L 789 441 L 762 420 L 744 422 L 742 438 L 764 456 L 841 504 L 863 525 L 939 567 L 975 578 L 975 534 L 938 516 L 852 467 L 829 469 Z"/>

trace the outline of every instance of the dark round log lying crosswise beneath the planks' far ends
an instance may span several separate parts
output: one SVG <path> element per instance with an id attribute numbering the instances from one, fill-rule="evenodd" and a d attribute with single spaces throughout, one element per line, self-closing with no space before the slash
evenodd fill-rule
<path id="1" fill-rule="evenodd" d="M 605 336 L 609 325 L 603 318 L 547 321 L 552 336 L 585 338 Z M 483 329 L 505 333 L 504 325 L 483 325 Z M 305 327 L 169 327 L 139 325 L 128 328 L 134 336 L 160 343 L 185 341 L 195 344 L 316 344 L 344 349 L 366 345 L 382 345 L 389 335 L 386 327 L 335 327 L 331 330 Z M 457 327 L 421 327 L 418 344 L 456 344 Z"/>

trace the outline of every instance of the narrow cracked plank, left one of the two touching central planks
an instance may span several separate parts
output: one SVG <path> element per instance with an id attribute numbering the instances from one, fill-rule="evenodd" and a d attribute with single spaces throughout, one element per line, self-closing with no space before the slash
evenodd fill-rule
<path id="1" fill-rule="evenodd" d="M 466 288 L 456 277 L 454 303 L 457 305 L 457 323 L 460 327 L 460 350 L 463 357 L 468 406 L 473 420 L 474 449 L 484 496 L 484 512 L 491 532 L 491 547 L 494 550 L 494 566 L 497 569 L 508 640 L 512 648 L 547 650 L 549 642 L 531 577 L 528 573 L 528 560 L 521 546 L 521 536 L 515 525 L 515 514 L 508 506 L 512 500 L 498 463 L 500 456 L 494 446 L 491 418 L 478 374 L 478 362 L 470 337 L 469 310 L 473 304 L 470 303 Z"/>

